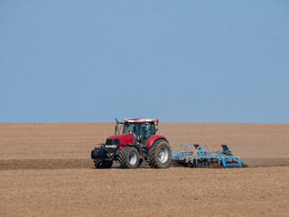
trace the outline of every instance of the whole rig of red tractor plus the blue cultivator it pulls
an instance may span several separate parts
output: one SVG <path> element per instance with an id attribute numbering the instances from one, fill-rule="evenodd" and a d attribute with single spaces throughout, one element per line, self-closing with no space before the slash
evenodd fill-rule
<path id="1" fill-rule="evenodd" d="M 110 168 L 113 162 L 119 162 L 122 168 L 136 168 L 147 162 L 152 168 L 167 168 L 172 160 L 190 167 L 246 166 L 239 157 L 232 155 L 227 145 L 217 150 L 208 144 L 194 145 L 193 148 L 182 143 L 178 151 L 172 153 L 167 139 L 156 135 L 158 123 L 159 120 L 153 118 L 117 120 L 115 136 L 107 137 L 106 143 L 98 144 L 91 151 L 95 167 Z"/>

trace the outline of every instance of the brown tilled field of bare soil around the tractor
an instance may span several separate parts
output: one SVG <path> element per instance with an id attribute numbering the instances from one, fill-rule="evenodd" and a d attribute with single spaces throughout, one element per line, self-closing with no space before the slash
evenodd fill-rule
<path id="1" fill-rule="evenodd" d="M 160 124 L 173 151 L 227 144 L 249 165 L 234 169 L 93 169 L 90 150 L 113 133 L 0 123 L 0 216 L 289 216 L 288 124 Z"/>

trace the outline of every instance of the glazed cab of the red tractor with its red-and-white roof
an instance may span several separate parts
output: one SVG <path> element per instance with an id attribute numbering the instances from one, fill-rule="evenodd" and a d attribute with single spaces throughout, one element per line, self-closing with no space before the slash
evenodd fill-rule
<path id="1" fill-rule="evenodd" d="M 155 135 L 158 120 L 144 118 L 126 118 L 123 126 L 123 134 L 133 134 L 135 144 L 145 146 L 147 140 Z"/>

